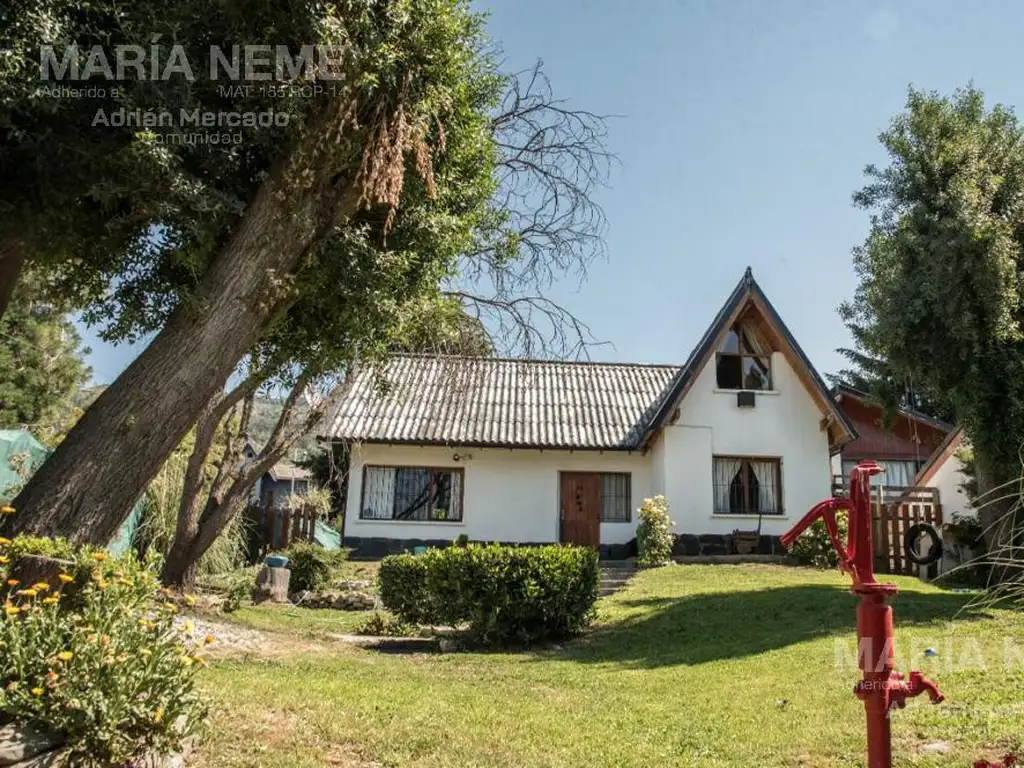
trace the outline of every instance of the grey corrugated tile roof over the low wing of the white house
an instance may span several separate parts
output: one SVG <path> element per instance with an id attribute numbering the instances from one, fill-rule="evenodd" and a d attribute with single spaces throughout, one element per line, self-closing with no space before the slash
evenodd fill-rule
<path id="1" fill-rule="evenodd" d="M 356 374 L 330 437 L 631 450 L 680 371 L 678 366 L 395 355 L 383 371 Z"/>

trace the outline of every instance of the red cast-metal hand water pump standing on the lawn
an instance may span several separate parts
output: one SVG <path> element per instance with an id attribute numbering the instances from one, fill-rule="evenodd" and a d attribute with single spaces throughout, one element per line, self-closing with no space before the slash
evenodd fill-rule
<path id="1" fill-rule="evenodd" d="M 886 600 L 896 594 L 895 584 L 874 581 L 874 551 L 871 546 L 871 475 L 885 470 L 877 462 L 861 462 L 850 475 L 850 496 L 835 497 L 815 504 L 803 519 L 782 537 L 792 547 L 815 520 L 822 520 L 839 555 L 840 569 L 853 578 L 857 606 L 857 659 L 863 674 L 853 692 L 864 702 L 867 716 L 867 768 L 892 768 L 892 734 L 889 714 L 906 706 L 906 699 L 928 692 L 932 703 L 942 701 L 938 686 L 920 672 L 910 681 L 893 668 L 893 609 Z M 847 543 L 840 539 L 836 512 L 847 510 Z"/>

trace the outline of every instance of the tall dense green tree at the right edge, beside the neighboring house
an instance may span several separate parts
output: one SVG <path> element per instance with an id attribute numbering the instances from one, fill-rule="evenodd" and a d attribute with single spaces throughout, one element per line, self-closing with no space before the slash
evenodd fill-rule
<path id="1" fill-rule="evenodd" d="M 868 167 L 855 198 L 871 231 L 855 252 L 860 285 L 844 315 L 864 351 L 966 428 L 982 495 L 1021 474 L 1022 139 L 1013 112 L 987 108 L 973 87 L 911 90 L 881 136 L 889 166 Z M 1005 509 L 982 511 L 991 522 Z"/>

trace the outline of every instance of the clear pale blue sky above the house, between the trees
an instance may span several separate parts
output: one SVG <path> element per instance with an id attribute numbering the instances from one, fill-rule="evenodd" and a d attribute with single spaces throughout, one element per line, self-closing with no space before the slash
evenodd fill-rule
<path id="1" fill-rule="evenodd" d="M 681 362 L 748 265 L 822 373 L 848 343 L 851 205 L 907 86 L 973 80 L 1015 104 L 1024 3 L 979 0 L 509 0 L 489 30 L 510 70 L 543 58 L 558 95 L 613 114 L 620 165 L 599 201 L 606 262 L 551 295 L 612 346 L 597 359 Z M 98 382 L 138 348 L 86 331 Z"/>

